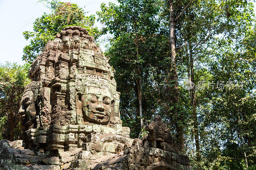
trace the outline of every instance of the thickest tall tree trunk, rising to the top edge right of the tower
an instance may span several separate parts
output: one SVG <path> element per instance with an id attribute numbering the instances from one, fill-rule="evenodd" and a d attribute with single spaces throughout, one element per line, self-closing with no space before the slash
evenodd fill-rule
<path id="1" fill-rule="evenodd" d="M 178 88 L 176 62 L 175 62 L 176 50 L 175 50 L 175 34 L 174 34 L 174 21 L 173 21 L 174 19 L 173 0 L 169 0 L 169 4 L 170 4 L 170 51 L 171 51 L 171 60 L 172 60 L 171 71 L 170 71 L 170 77 L 172 81 L 171 93 L 172 93 L 173 103 L 177 105 L 180 102 L 180 96 L 179 96 L 179 88 Z M 174 114 L 177 117 L 177 119 L 182 119 L 182 116 L 179 116 L 178 112 L 179 112 L 178 107 L 176 107 Z M 175 122 L 174 124 L 176 126 L 177 138 L 180 144 L 180 151 L 183 152 L 183 149 L 184 149 L 183 126 L 178 122 Z"/>

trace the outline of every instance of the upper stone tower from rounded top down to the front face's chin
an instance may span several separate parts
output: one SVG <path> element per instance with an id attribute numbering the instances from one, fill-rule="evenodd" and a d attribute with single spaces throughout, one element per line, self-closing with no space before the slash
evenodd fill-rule
<path id="1" fill-rule="evenodd" d="M 31 84 L 42 84 L 37 89 L 38 126 L 121 125 L 114 70 L 84 28 L 70 26 L 58 33 L 32 63 L 29 78 Z"/>

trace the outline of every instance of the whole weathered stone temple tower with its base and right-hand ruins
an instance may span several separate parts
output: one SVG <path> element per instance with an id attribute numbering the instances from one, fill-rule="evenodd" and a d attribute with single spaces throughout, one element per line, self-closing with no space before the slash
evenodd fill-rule
<path id="1" fill-rule="evenodd" d="M 31 65 L 22 134 L 0 141 L 0 169 L 190 169 L 159 116 L 143 140 L 130 138 L 114 73 L 84 28 L 58 33 Z"/>

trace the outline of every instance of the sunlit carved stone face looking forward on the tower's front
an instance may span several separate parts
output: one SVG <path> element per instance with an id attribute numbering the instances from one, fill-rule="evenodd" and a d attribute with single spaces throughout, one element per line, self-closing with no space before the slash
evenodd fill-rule
<path id="1" fill-rule="evenodd" d="M 82 96 L 84 118 L 98 124 L 107 124 L 111 114 L 110 92 L 90 87 L 89 94 Z"/>

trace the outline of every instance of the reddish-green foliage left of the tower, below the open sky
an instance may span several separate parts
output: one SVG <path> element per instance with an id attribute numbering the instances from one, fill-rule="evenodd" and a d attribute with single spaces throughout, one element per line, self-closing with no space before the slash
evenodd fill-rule
<path id="1" fill-rule="evenodd" d="M 18 111 L 25 86 L 29 83 L 29 65 L 0 65 L 0 139 L 17 140 L 20 135 Z"/>

